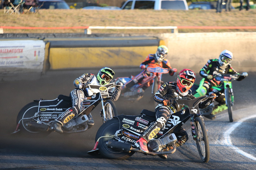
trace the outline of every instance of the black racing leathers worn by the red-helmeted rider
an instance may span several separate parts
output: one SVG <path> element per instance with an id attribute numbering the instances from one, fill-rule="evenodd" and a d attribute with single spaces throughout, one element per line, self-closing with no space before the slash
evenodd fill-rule
<path id="1" fill-rule="evenodd" d="M 180 98 L 190 98 L 195 99 L 195 97 L 191 94 L 191 90 L 186 92 L 181 92 L 179 88 L 177 88 L 176 82 L 168 82 L 158 89 L 155 93 L 154 100 L 159 104 L 156 106 L 156 121 L 153 122 L 141 135 L 146 141 L 151 140 L 161 129 L 165 128 L 168 119 L 170 118 L 173 111 L 170 110 L 170 107 L 165 106 L 163 104 L 163 100 L 171 100 L 171 99 L 180 99 Z M 199 103 L 199 108 L 205 108 L 212 103 L 211 99 Z M 175 112 L 180 111 L 183 106 L 178 105 L 177 103 L 173 103 L 172 105 L 175 108 Z M 177 136 L 177 145 L 181 146 L 188 139 L 187 132 L 181 128 L 179 131 L 182 135 Z"/>

